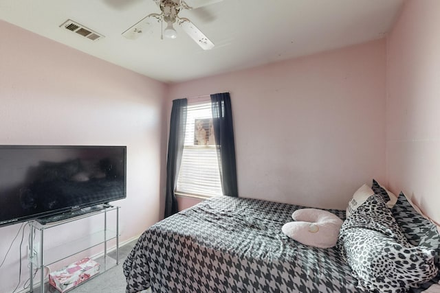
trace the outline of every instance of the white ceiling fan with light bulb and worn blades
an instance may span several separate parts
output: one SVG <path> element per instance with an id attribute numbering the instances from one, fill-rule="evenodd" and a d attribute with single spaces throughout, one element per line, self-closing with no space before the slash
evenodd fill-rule
<path id="1" fill-rule="evenodd" d="M 151 30 L 157 23 L 166 23 L 166 28 L 162 32 L 162 37 L 176 38 L 177 32 L 173 24 L 177 23 L 202 49 L 209 50 L 214 47 L 214 43 L 205 36 L 189 19 L 179 17 L 182 10 L 193 10 L 202 6 L 223 0 L 153 0 L 159 6 L 161 13 L 152 13 L 137 21 L 129 27 L 122 36 L 135 39 Z"/>

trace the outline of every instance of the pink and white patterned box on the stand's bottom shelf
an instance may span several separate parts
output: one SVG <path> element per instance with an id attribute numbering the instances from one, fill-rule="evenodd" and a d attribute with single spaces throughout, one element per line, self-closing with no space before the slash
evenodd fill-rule
<path id="1" fill-rule="evenodd" d="M 99 263 L 86 257 L 62 270 L 51 272 L 49 274 L 49 283 L 63 293 L 98 274 L 99 268 Z"/>

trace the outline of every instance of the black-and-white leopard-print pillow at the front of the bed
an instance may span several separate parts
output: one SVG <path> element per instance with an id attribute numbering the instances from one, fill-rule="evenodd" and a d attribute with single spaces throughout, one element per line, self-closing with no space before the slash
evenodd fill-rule
<path id="1" fill-rule="evenodd" d="M 408 244 L 382 196 L 371 196 L 342 224 L 338 248 L 363 290 L 408 292 L 437 275 L 434 250 Z"/>

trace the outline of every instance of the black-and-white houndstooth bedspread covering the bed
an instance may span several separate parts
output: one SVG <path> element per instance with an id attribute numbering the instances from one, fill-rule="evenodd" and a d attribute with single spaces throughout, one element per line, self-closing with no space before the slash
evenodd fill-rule
<path id="1" fill-rule="evenodd" d="M 166 218 L 124 261 L 126 292 L 362 292 L 337 248 L 283 234 L 300 208 L 217 197 Z M 344 218 L 344 211 L 328 211 Z"/>

